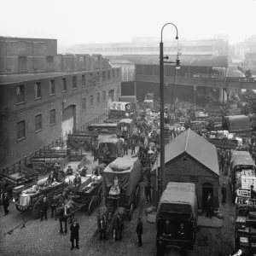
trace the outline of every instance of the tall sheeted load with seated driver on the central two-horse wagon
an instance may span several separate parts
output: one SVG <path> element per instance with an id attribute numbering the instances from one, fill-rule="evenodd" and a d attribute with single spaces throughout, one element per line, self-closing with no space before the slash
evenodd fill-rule
<path id="1" fill-rule="evenodd" d="M 112 166 L 115 168 L 112 168 Z M 129 204 L 141 180 L 142 165 L 140 160 L 138 158 L 119 157 L 108 165 L 103 172 L 103 195 L 108 197 L 108 195 L 118 195 L 120 193 L 123 195 L 120 204 Z"/>

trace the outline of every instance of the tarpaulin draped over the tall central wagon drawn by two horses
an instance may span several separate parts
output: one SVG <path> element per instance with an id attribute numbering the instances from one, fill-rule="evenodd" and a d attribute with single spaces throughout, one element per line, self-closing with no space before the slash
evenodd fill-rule
<path id="1" fill-rule="evenodd" d="M 110 167 L 113 165 L 119 166 L 119 168 L 129 167 L 126 171 L 116 171 L 114 172 L 113 169 Z M 109 189 L 113 186 L 114 177 L 117 176 L 119 179 L 120 187 L 126 189 L 125 195 L 131 196 L 133 192 L 137 188 L 137 184 L 140 183 L 142 179 L 142 165 L 138 158 L 123 158 L 119 157 L 114 160 L 110 165 L 108 165 L 102 176 L 102 190 L 103 195 L 107 196 Z"/>

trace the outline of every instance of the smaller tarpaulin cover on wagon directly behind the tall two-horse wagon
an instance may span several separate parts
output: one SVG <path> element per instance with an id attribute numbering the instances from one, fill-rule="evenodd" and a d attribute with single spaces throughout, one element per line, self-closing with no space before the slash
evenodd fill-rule
<path id="1" fill-rule="evenodd" d="M 99 151 L 98 156 L 101 158 L 103 155 L 103 148 L 105 147 L 105 144 L 107 144 L 109 149 L 109 157 L 119 157 L 121 155 L 121 141 L 116 137 L 103 137 L 99 140 Z"/>

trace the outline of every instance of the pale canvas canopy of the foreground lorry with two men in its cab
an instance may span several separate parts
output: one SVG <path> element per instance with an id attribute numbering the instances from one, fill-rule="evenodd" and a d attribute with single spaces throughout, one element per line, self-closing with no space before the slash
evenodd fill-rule
<path id="1" fill-rule="evenodd" d="M 160 198 L 156 219 L 160 212 L 190 213 L 197 221 L 197 192 L 194 183 L 168 183 Z"/>

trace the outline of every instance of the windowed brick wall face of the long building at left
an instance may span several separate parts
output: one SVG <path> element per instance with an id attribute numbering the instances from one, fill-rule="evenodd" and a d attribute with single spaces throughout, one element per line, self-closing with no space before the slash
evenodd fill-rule
<path id="1" fill-rule="evenodd" d="M 72 78 L 77 75 L 77 89 L 73 90 Z M 89 84 L 82 86 L 81 74 L 70 74 L 64 76 L 67 78 L 67 92 L 62 92 L 62 78 L 49 78 L 26 81 L 23 83 L 3 84 L 0 92 L 0 108 L 9 106 L 10 112 L 7 119 L 1 119 L 1 126 L 6 134 L 8 143 L 8 155 L 3 165 L 20 160 L 40 147 L 55 141 L 55 138 L 61 137 L 61 114 L 62 108 L 69 105 L 76 106 L 76 124 L 79 128 L 96 116 L 106 113 L 108 110 L 108 91 L 114 90 L 115 98 L 119 98 L 117 87 L 121 84 L 121 79 L 111 79 L 105 83 L 97 84 L 96 88 L 90 87 Z M 49 80 L 55 80 L 55 95 L 49 95 Z M 85 79 L 86 80 L 86 79 Z M 42 86 L 42 98 L 35 99 L 35 83 L 40 81 Z M 17 105 L 16 86 L 24 84 L 26 90 L 26 102 Z M 103 90 L 106 90 L 106 100 L 103 101 Z M 96 95 L 100 93 L 101 101 L 96 102 Z M 90 96 L 94 97 L 94 104 L 90 106 Z M 86 109 L 82 109 L 82 98 L 86 100 Z M 49 113 L 55 109 L 56 124 L 49 125 Z M 42 114 L 43 129 L 35 132 L 35 116 Z M 17 141 L 17 123 L 21 120 L 26 121 L 26 138 Z"/>

